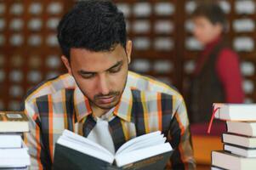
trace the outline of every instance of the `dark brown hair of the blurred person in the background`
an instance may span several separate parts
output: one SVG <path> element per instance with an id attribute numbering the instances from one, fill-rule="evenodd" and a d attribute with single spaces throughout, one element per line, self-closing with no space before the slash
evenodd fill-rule
<path id="1" fill-rule="evenodd" d="M 218 1 L 202 1 L 198 3 L 196 9 L 191 14 L 191 18 L 199 16 L 206 17 L 213 25 L 220 24 L 225 31 L 227 20 Z"/>

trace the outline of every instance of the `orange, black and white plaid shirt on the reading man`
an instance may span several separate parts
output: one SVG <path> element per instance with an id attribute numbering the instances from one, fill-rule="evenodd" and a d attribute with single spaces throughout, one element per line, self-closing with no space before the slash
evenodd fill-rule
<path id="1" fill-rule="evenodd" d="M 51 169 L 54 145 L 64 129 L 87 137 L 96 123 L 88 99 L 68 74 L 31 90 L 24 109 L 30 118 L 25 141 L 31 169 Z M 174 148 L 167 168 L 196 167 L 185 102 L 174 88 L 129 71 L 113 116 L 109 127 L 116 150 L 129 139 L 160 130 Z"/>

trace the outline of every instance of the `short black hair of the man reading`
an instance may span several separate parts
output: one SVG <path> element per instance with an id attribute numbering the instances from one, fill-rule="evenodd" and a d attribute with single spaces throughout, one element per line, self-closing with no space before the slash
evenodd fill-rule
<path id="1" fill-rule="evenodd" d="M 125 48 L 124 16 L 111 1 L 79 1 L 60 20 L 57 37 L 67 59 L 70 59 L 71 48 L 94 52 L 111 51 L 117 44 Z"/>

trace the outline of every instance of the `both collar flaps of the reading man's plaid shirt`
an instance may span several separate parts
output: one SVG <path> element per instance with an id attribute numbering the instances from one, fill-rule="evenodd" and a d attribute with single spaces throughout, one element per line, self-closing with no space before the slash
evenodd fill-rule
<path id="1" fill-rule="evenodd" d="M 119 103 L 116 105 L 113 114 L 122 118 L 126 122 L 131 122 L 132 120 L 132 105 L 133 105 L 133 97 L 132 97 L 131 88 L 128 87 L 128 83 L 123 90 L 122 97 Z M 89 104 L 89 100 L 82 94 L 82 91 L 78 86 L 74 91 L 74 109 L 77 116 L 77 122 L 81 122 L 84 117 L 92 114 L 92 109 Z"/>

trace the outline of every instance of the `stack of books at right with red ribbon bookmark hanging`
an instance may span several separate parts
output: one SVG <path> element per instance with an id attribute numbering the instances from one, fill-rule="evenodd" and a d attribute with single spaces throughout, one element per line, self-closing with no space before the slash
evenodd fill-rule
<path id="1" fill-rule="evenodd" d="M 256 169 L 256 105 L 215 104 L 214 110 L 227 129 L 224 150 L 212 151 L 212 169 Z"/>

